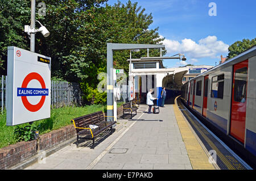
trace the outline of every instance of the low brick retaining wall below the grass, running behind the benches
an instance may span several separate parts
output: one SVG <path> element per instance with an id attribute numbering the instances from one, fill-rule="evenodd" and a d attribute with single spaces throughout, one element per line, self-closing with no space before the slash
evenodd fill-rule
<path id="1" fill-rule="evenodd" d="M 118 115 L 122 113 L 122 107 L 117 109 Z M 15 145 L 0 149 L 0 170 L 10 167 L 36 155 L 39 150 L 51 149 L 76 136 L 73 125 L 40 135 L 39 140 L 18 142 Z"/>

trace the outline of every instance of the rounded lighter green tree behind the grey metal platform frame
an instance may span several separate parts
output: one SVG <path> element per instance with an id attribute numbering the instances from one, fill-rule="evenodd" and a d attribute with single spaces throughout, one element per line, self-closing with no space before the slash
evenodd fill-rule
<path id="1" fill-rule="evenodd" d="M 96 92 L 98 82 L 97 74 L 106 72 L 106 43 L 134 43 L 134 44 L 157 44 L 163 41 L 159 37 L 158 28 L 149 30 L 152 21 L 152 15 L 144 14 L 145 9 L 138 7 L 138 3 L 128 1 L 126 5 L 121 2 L 99 9 L 93 8 L 88 12 L 92 14 L 93 19 L 89 19 L 80 29 L 80 41 L 84 45 L 89 45 L 93 50 L 90 57 L 93 58 L 92 64 L 86 67 L 86 73 L 90 74 L 84 78 L 81 85 L 84 94 Z M 88 36 L 90 35 L 90 36 Z M 87 36 L 86 39 L 82 37 Z M 165 54 L 166 52 L 163 52 Z M 159 49 L 151 50 L 150 56 L 159 56 Z M 146 55 L 146 50 L 134 52 L 133 58 L 140 58 Z M 113 56 L 114 68 L 129 71 L 130 57 L 128 50 L 115 51 Z M 99 93 L 103 94 L 103 93 Z M 93 102 L 93 96 L 86 96 L 86 100 Z"/>

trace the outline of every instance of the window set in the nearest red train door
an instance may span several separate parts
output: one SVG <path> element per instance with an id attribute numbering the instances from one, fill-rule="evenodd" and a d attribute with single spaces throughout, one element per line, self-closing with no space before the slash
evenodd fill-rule
<path id="1" fill-rule="evenodd" d="M 247 68 L 237 69 L 234 77 L 234 101 L 245 103 L 247 88 Z"/>

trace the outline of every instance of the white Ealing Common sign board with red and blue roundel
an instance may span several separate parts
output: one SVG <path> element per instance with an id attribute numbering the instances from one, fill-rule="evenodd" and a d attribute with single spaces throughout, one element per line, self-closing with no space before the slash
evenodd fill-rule
<path id="1" fill-rule="evenodd" d="M 51 117 L 51 57 L 8 47 L 6 125 Z"/>

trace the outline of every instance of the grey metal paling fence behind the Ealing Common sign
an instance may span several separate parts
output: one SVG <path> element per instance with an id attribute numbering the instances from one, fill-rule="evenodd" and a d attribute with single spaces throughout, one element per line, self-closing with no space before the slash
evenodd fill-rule
<path id="1" fill-rule="evenodd" d="M 6 106 L 6 82 L 7 76 L 0 77 L 1 87 L 1 113 Z M 51 81 L 51 106 L 59 108 L 63 106 L 80 106 L 82 101 L 81 89 L 79 83 Z"/>

